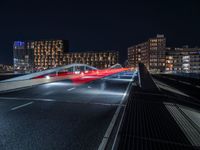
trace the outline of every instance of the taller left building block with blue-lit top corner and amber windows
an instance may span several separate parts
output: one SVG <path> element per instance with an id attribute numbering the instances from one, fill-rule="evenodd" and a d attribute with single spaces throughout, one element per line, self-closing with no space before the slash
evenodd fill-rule
<path id="1" fill-rule="evenodd" d="M 63 55 L 69 49 L 65 40 L 15 41 L 14 70 L 31 72 L 63 65 Z"/>

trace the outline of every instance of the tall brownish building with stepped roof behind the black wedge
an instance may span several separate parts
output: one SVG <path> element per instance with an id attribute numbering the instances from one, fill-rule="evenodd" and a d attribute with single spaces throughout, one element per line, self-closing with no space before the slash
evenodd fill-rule
<path id="1" fill-rule="evenodd" d="M 165 70 L 166 38 L 157 35 L 148 41 L 128 48 L 128 63 L 130 67 L 136 67 L 142 62 L 150 71 Z"/>

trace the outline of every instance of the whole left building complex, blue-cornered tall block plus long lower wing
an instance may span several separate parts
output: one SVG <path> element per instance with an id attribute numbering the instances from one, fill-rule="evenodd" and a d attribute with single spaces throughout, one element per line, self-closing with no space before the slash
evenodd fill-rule
<path id="1" fill-rule="evenodd" d="M 117 51 L 68 52 L 68 49 L 65 40 L 15 41 L 14 71 L 29 73 L 72 63 L 103 69 L 118 63 Z"/>

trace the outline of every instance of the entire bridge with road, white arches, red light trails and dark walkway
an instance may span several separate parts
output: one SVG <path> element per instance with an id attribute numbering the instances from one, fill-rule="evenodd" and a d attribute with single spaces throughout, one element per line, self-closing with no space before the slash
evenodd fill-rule
<path id="1" fill-rule="evenodd" d="M 200 101 L 181 90 L 199 86 L 189 82 L 152 77 L 143 64 L 71 64 L 6 80 L 0 149 L 199 149 Z"/>

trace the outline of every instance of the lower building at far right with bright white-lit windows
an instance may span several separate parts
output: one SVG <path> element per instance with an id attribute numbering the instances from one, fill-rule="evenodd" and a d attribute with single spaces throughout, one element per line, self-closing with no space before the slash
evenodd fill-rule
<path id="1" fill-rule="evenodd" d="M 200 48 L 167 48 L 166 72 L 200 72 Z"/>

